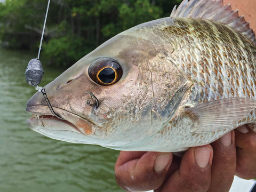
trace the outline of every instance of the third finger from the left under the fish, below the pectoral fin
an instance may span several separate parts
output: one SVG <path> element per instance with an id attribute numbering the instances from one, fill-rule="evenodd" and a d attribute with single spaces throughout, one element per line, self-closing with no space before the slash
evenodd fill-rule
<path id="1" fill-rule="evenodd" d="M 231 131 L 214 141 L 212 178 L 208 192 L 229 191 L 236 171 L 235 132 Z"/>

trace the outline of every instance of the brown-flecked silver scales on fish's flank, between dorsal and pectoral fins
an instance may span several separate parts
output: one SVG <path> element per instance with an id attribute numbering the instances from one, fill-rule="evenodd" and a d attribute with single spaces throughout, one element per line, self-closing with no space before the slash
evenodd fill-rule
<path id="1" fill-rule="evenodd" d="M 207 20 L 186 18 L 174 22 L 181 30 L 185 28 L 183 35 L 173 36 L 177 52 L 174 62 L 194 83 L 191 102 L 200 104 L 231 97 L 255 99 L 256 49 L 246 37 Z"/>

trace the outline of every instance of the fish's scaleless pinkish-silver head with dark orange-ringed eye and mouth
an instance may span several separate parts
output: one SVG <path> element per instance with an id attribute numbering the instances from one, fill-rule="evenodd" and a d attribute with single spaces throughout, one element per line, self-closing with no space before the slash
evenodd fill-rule
<path id="1" fill-rule="evenodd" d="M 159 131 L 161 112 L 185 79 L 167 59 L 172 46 L 151 25 L 109 39 L 44 87 L 64 120 L 37 92 L 27 103 L 35 114 L 28 126 L 53 139 L 109 148 Z"/>

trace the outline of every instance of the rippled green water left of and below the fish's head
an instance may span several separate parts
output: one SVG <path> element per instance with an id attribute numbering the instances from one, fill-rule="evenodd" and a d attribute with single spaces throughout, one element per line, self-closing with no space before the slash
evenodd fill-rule
<path id="1" fill-rule="evenodd" d="M 0 49 L 0 191 L 122 191 L 115 182 L 119 151 L 57 141 L 26 126 L 35 93 L 25 69 L 31 55 Z M 61 70 L 47 69 L 41 85 Z"/>

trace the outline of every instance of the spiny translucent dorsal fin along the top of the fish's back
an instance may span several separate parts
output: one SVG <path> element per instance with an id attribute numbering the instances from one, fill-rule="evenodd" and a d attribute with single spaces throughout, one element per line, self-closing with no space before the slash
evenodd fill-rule
<path id="1" fill-rule="evenodd" d="M 224 25 L 240 31 L 256 46 L 255 34 L 238 10 L 233 11 L 230 4 L 224 6 L 223 0 L 183 0 L 179 7 L 173 8 L 170 17 L 202 18 L 220 21 Z"/>

